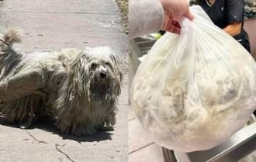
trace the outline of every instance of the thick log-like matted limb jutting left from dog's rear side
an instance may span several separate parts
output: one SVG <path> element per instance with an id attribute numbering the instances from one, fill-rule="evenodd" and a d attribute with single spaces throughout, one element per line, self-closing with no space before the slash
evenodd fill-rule
<path id="1" fill-rule="evenodd" d="M 0 81 L 0 103 L 18 100 L 36 93 L 36 90 L 40 88 L 43 88 L 43 72 L 41 69 L 18 73 L 5 81 Z"/>

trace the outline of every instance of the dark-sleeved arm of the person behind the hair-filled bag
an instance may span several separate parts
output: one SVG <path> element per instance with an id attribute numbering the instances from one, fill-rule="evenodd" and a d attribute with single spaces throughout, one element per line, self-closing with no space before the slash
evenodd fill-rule
<path id="1" fill-rule="evenodd" d="M 223 30 L 231 36 L 240 34 L 244 16 L 244 0 L 227 0 L 227 21 Z"/>

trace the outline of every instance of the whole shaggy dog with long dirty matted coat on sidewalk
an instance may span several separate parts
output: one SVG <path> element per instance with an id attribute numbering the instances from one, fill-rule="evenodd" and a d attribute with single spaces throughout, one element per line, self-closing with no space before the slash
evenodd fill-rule
<path id="1" fill-rule="evenodd" d="M 0 115 L 21 127 L 54 117 L 61 133 L 82 136 L 116 123 L 122 73 L 108 47 L 19 54 L 16 29 L 0 34 Z"/>

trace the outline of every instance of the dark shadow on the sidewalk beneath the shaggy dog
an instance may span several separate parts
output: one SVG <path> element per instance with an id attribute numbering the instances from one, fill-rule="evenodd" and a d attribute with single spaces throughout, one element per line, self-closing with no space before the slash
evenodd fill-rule
<path id="1" fill-rule="evenodd" d="M 5 118 L 1 115 L 0 115 L 0 124 L 6 127 L 19 128 L 17 124 L 15 125 L 15 124 L 6 122 Z M 113 130 L 98 130 L 96 133 L 94 133 L 91 136 L 86 136 L 86 137 L 72 136 L 72 135 L 61 133 L 59 130 L 57 130 L 57 128 L 54 127 L 54 121 L 36 121 L 36 123 L 33 123 L 32 126 L 29 127 L 27 130 L 32 130 L 34 128 L 45 130 L 53 134 L 57 134 L 58 136 L 62 137 L 63 140 L 74 140 L 74 141 L 77 141 L 78 143 L 112 140 L 111 131 L 113 131 Z M 22 129 L 22 128 L 19 128 L 19 129 Z"/>

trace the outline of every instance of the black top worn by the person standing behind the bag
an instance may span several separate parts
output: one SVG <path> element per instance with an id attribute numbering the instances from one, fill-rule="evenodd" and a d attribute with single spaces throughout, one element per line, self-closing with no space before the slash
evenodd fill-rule
<path id="1" fill-rule="evenodd" d="M 233 22 L 244 22 L 244 0 L 215 0 L 212 5 L 206 1 L 201 0 L 199 5 L 209 15 L 213 23 L 221 29 Z M 250 52 L 248 35 L 244 29 L 241 30 L 240 34 L 234 36 L 234 39 L 237 39 Z"/>

